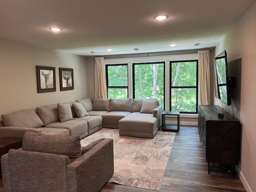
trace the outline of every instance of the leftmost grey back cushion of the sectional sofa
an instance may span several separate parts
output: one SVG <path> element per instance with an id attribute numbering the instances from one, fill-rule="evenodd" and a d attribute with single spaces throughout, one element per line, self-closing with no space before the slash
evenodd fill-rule
<path id="1" fill-rule="evenodd" d="M 20 110 L 1 117 L 5 126 L 39 128 L 44 125 L 33 109 Z"/>

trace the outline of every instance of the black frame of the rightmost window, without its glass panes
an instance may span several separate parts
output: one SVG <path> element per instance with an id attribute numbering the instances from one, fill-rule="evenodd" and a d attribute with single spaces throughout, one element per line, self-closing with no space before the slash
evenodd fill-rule
<path id="1" fill-rule="evenodd" d="M 172 86 L 172 63 L 178 62 L 196 62 L 196 86 Z M 178 60 L 178 61 L 170 61 L 170 111 L 172 111 L 172 98 L 171 92 L 172 88 L 196 88 L 196 112 L 184 112 L 181 111 L 182 114 L 198 114 L 198 59 L 194 60 Z"/>

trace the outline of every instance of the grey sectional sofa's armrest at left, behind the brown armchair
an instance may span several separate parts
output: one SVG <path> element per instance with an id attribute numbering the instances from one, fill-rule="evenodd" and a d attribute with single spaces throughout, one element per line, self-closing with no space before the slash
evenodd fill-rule
<path id="1" fill-rule="evenodd" d="M 26 131 L 32 131 L 41 133 L 42 131 L 38 128 L 27 128 L 27 127 L 0 127 L 0 135 L 2 137 L 19 137 L 23 138 Z"/>

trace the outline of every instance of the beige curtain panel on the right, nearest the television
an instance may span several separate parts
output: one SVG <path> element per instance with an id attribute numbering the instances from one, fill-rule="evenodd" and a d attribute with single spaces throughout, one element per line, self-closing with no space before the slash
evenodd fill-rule
<path id="1" fill-rule="evenodd" d="M 210 50 L 198 51 L 199 104 L 210 105 Z"/>

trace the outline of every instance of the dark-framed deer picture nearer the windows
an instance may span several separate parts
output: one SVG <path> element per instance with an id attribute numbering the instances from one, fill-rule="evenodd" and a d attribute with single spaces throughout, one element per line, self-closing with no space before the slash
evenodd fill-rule
<path id="1" fill-rule="evenodd" d="M 74 74 L 73 69 L 60 68 L 60 90 L 73 90 L 74 89 Z"/>

